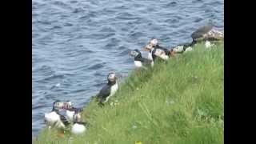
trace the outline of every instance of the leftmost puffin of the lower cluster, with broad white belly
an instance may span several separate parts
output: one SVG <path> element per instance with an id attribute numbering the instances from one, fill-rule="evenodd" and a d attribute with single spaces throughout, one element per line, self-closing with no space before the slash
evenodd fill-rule
<path id="1" fill-rule="evenodd" d="M 54 102 L 52 111 L 45 114 L 45 122 L 49 128 L 52 126 L 57 128 L 65 128 L 70 124 L 62 114 L 59 114 L 59 109 L 58 106 L 56 107 L 56 102 Z"/>

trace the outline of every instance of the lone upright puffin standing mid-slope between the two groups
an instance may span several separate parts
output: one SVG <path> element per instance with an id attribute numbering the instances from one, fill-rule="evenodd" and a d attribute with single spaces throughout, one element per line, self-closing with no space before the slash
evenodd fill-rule
<path id="1" fill-rule="evenodd" d="M 107 81 L 107 84 L 97 94 L 97 98 L 101 104 L 107 102 L 118 90 L 117 77 L 114 73 L 108 74 Z"/>

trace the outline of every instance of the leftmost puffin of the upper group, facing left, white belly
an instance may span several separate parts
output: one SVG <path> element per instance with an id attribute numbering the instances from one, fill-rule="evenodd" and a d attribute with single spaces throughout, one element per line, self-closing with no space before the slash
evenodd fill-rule
<path id="1" fill-rule="evenodd" d="M 154 61 L 150 60 L 148 58 L 142 58 L 142 53 L 137 49 L 131 50 L 129 52 L 129 54 L 130 54 L 130 56 L 134 57 L 134 65 L 137 68 L 147 69 L 147 67 L 149 67 L 149 66 L 151 66 L 151 67 L 154 66 Z"/>

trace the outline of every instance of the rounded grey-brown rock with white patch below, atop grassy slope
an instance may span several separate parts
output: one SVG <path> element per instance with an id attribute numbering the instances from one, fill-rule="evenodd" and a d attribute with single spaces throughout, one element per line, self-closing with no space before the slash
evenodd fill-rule
<path id="1" fill-rule="evenodd" d="M 198 42 L 205 42 L 206 48 L 213 46 L 211 42 L 218 42 L 224 40 L 224 31 L 218 30 L 212 25 L 199 27 L 191 34 L 193 44 Z"/>

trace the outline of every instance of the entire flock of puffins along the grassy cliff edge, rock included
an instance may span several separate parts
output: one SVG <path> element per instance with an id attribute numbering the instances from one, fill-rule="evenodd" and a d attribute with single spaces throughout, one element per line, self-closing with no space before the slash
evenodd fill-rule
<path id="1" fill-rule="evenodd" d="M 134 57 L 134 65 L 137 68 L 147 69 L 147 67 L 154 66 L 154 61 L 157 58 L 167 61 L 169 58 L 174 57 L 175 54 L 182 54 L 183 52 L 193 50 L 193 46 L 198 42 L 205 42 L 206 48 L 213 46 L 212 42 L 218 42 L 224 39 L 222 31 L 214 29 L 214 26 L 202 26 L 191 34 L 192 42 L 173 46 L 170 50 L 159 46 L 158 39 L 152 38 L 146 44 L 143 51 L 148 51 L 148 58 L 142 58 L 142 53 L 139 50 L 131 50 L 130 56 Z M 102 87 L 102 90 L 96 95 L 100 106 L 104 106 L 111 96 L 118 90 L 117 77 L 114 73 L 107 76 L 107 84 Z M 72 134 L 83 134 L 86 131 L 86 122 L 82 122 L 82 108 L 76 108 L 72 102 L 55 101 L 53 109 L 50 113 L 45 114 L 45 122 L 49 127 L 57 127 L 58 129 L 65 129 L 66 126 L 71 126 Z M 66 112 L 61 114 L 61 112 Z M 66 116 L 64 116 L 66 115 Z"/>

